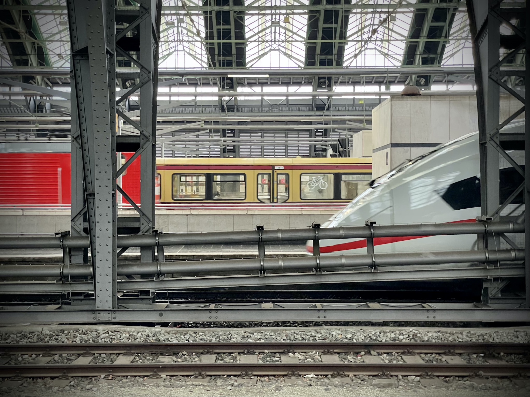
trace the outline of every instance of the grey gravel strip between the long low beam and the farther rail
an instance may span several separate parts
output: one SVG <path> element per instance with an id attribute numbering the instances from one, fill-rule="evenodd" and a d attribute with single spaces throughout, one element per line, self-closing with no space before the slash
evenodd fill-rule
<path id="1" fill-rule="evenodd" d="M 33 329 L 32 329 L 33 328 Z M 257 341 L 350 341 L 350 342 L 513 342 L 528 343 L 530 328 L 224 328 L 184 329 L 120 326 L 44 326 L 0 328 L 0 342 L 116 343 L 116 342 L 257 342 Z"/>

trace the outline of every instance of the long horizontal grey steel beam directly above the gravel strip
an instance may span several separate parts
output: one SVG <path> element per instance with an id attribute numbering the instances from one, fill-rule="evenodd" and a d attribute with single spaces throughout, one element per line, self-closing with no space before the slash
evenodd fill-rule
<path id="1" fill-rule="evenodd" d="M 10 323 L 169 322 L 169 321 L 530 321 L 530 310 L 513 305 L 474 304 L 258 303 L 124 304 L 116 310 L 91 306 L 2 306 L 2 321 Z"/>

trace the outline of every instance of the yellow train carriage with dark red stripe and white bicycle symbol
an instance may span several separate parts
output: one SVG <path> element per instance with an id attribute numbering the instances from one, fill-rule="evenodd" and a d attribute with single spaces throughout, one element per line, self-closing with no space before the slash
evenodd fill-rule
<path id="1" fill-rule="evenodd" d="M 366 190 L 370 159 L 157 159 L 161 203 L 346 202 Z"/>

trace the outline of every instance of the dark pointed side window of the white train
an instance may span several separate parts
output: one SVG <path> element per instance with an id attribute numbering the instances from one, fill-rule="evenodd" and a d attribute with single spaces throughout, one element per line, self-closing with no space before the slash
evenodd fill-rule
<path id="1" fill-rule="evenodd" d="M 521 166 L 523 169 L 525 166 Z M 499 173 L 500 181 L 500 203 L 507 198 L 524 182 L 524 177 L 514 167 L 502 168 Z M 441 192 L 438 192 L 441 193 Z M 453 208 L 463 210 L 466 208 L 480 207 L 480 179 L 476 176 L 463 179 L 449 185 L 447 190 L 441 194 L 441 198 Z M 520 192 L 511 202 L 512 204 L 523 203 L 523 192 Z"/>

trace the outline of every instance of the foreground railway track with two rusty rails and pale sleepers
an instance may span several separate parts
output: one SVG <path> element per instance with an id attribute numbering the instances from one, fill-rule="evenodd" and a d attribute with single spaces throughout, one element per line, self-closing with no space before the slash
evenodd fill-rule
<path id="1" fill-rule="evenodd" d="M 528 376 L 529 344 L 411 343 L 411 342 L 189 342 L 109 344 L 4 344 L 0 345 L 0 376 L 215 376 L 215 375 L 416 375 L 416 376 Z M 361 355 L 361 351 L 364 355 Z M 193 355 L 195 362 L 175 362 Z M 258 362 L 260 354 L 276 353 L 281 360 Z M 321 362 L 298 362 L 300 354 L 313 352 Z M 354 353 L 352 353 L 354 352 Z M 234 362 L 218 362 L 232 354 Z M 353 354 L 358 362 L 345 360 Z M 399 363 L 384 362 L 386 353 Z M 502 353 L 502 355 L 500 355 Z M 56 364 L 54 355 L 78 355 L 73 362 Z M 95 357 L 114 355 L 112 362 Z M 134 363 L 137 355 L 150 354 L 152 362 Z M 443 362 L 424 362 L 420 354 L 439 354 Z M 467 363 L 465 355 L 480 355 L 481 363 Z M 21 355 L 34 355 L 29 363 L 10 364 Z M 521 356 L 513 363 L 500 357 Z M 360 357 L 360 358 L 359 358 Z M 425 356 L 424 356 L 425 357 Z M 93 361 L 94 360 L 94 361 Z M 92 363 L 94 362 L 94 363 Z"/>

